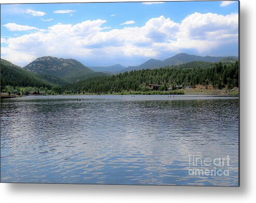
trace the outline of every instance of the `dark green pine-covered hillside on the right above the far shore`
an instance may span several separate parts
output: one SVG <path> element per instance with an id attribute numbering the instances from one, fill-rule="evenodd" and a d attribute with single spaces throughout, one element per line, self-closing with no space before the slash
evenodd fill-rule
<path id="1" fill-rule="evenodd" d="M 211 84 L 217 89 L 238 86 L 238 62 L 191 62 L 159 69 L 143 69 L 124 72 L 111 77 L 96 77 L 64 86 L 63 90 L 89 93 L 120 91 L 149 91 L 149 84 L 161 85 L 160 90 L 174 89 L 177 85 L 195 87 Z"/>

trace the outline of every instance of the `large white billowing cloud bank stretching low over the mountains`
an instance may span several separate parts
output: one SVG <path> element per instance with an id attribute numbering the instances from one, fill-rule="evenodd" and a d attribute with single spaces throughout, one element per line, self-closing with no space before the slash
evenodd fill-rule
<path id="1" fill-rule="evenodd" d="M 7 46 L 2 47 L 1 56 L 21 66 L 42 55 L 73 57 L 85 65 L 138 65 L 152 57 L 165 59 L 184 50 L 210 55 L 212 50 L 238 44 L 237 13 L 223 16 L 195 12 L 181 22 L 159 16 L 140 27 L 112 30 L 107 30 L 110 27 L 105 23 L 102 19 L 58 23 L 45 32 L 32 27 L 36 32 L 5 39 Z"/>

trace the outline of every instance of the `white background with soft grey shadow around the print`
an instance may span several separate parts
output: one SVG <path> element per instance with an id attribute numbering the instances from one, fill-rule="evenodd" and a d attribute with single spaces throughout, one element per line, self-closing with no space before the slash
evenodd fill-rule
<path id="1" fill-rule="evenodd" d="M 90 2 L 1 0 L 3 3 Z M 107 2 L 97 0 L 95 2 Z M 112 0 L 111 2 L 118 2 Z M 240 0 L 240 187 L 0 184 L 2 202 L 254 202 L 256 1 Z"/>

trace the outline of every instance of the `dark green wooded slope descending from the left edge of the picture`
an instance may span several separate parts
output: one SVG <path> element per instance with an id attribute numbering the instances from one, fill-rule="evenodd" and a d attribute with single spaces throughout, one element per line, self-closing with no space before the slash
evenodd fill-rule
<path id="1" fill-rule="evenodd" d="M 1 85 L 11 86 L 41 86 L 51 88 L 51 84 L 37 74 L 25 70 L 11 62 L 1 59 Z"/>

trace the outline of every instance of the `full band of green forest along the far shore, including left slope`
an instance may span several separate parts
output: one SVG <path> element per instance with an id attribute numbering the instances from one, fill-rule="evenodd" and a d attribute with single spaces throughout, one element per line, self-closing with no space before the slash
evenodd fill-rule
<path id="1" fill-rule="evenodd" d="M 215 89 L 232 89 L 239 85 L 238 62 L 209 63 L 190 62 L 158 69 L 132 70 L 113 76 L 97 76 L 66 84 L 55 76 L 46 82 L 46 76 L 34 74 L 8 61 L 1 60 L 1 91 L 28 94 L 31 90 L 46 90 L 46 94 L 118 94 L 134 92 L 155 94 L 149 84 L 158 84 L 158 93 L 178 89 L 195 88 L 196 85 L 212 85 Z M 61 82 L 61 84 L 58 84 Z M 63 82 L 63 83 L 62 83 Z M 27 87 L 26 89 L 19 89 Z M 30 88 L 33 87 L 33 88 Z M 22 90 L 22 91 L 20 91 Z M 176 92 L 178 93 L 178 92 Z"/>

